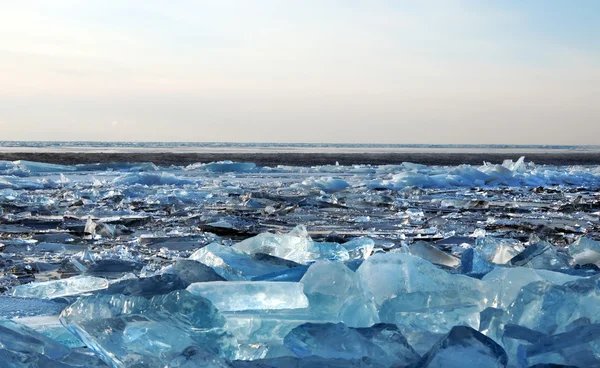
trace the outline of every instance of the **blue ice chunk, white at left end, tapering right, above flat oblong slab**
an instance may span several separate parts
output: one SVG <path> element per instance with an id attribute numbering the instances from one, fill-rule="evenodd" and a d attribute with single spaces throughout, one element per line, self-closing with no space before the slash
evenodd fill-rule
<path id="1" fill-rule="evenodd" d="M 289 267 L 258 261 L 237 248 L 211 243 L 189 257 L 211 267 L 229 281 L 250 280 L 253 277 L 288 270 Z"/>

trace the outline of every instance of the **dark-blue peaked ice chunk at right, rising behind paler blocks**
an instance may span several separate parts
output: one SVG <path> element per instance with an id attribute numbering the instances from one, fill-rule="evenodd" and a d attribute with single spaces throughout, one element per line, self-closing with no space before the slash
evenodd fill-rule
<path id="1" fill-rule="evenodd" d="M 559 254 L 554 246 L 546 241 L 539 241 L 527 247 L 510 260 L 513 266 L 526 266 L 538 269 L 557 270 L 569 267 L 569 259 Z"/>

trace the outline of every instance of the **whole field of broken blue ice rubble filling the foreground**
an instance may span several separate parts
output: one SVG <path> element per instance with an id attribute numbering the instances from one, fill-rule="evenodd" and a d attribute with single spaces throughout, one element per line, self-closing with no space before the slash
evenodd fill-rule
<path id="1" fill-rule="evenodd" d="M 599 185 L 523 159 L 0 162 L 0 363 L 598 366 Z"/>

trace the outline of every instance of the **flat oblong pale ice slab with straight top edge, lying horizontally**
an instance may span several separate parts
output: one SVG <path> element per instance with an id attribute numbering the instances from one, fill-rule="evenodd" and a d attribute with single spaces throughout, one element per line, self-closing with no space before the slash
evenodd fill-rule
<path id="1" fill-rule="evenodd" d="M 220 311 L 308 307 L 303 285 L 296 282 L 200 282 L 190 285 L 187 290 L 210 300 Z"/>

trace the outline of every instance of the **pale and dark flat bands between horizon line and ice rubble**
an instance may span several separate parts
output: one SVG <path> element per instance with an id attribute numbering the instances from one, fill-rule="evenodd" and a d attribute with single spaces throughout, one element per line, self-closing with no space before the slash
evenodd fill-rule
<path id="1" fill-rule="evenodd" d="M 257 150 L 257 149 L 194 149 L 184 152 L 160 149 L 81 149 L 61 150 L 56 148 L 23 150 L 23 147 L 1 147 L 0 160 L 28 160 L 64 165 L 106 162 L 153 162 L 156 165 L 189 165 L 197 162 L 231 160 L 254 162 L 258 166 L 316 166 L 332 165 L 393 165 L 413 162 L 424 165 L 480 165 L 484 161 L 502 163 L 505 159 L 517 160 L 525 156 L 527 162 L 543 165 L 600 165 L 597 150 L 515 150 L 492 149 L 483 151 L 466 149 L 306 149 Z M 482 152 L 483 151 L 483 152 Z"/>

